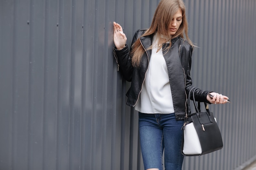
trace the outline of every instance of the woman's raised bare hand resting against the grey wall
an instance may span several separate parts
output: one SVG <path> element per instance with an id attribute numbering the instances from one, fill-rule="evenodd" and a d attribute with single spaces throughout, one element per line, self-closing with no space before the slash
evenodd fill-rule
<path id="1" fill-rule="evenodd" d="M 126 35 L 123 33 L 121 25 L 113 22 L 114 25 L 114 43 L 118 50 L 124 49 L 126 44 Z"/>

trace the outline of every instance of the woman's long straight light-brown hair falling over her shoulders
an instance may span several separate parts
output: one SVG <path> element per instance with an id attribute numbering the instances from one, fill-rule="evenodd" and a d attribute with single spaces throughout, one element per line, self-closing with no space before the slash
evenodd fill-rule
<path id="1" fill-rule="evenodd" d="M 174 35 L 170 35 L 168 32 L 168 25 L 171 23 L 171 20 L 173 19 L 173 16 L 175 13 L 181 9 L 182 11 L 182 23 L 180 24 L 179 29 Z M 157 6 L 157 9 L 155 10 L 155 14 L 153 16 L 153 20 L 151 23 L 150 28 L 143 34 L 141 37 L 152 35 L 157 33 L 157 44 L 160 44 L 160 47 L 162 47 L 162 44 L 165 42 L 168 42 L 171 40 L 171 38 L 175 38 L 180 36 L 181 38 L 184 37 L 184 33 L 186 36 L 186 40 L 193 46 L 193 43 L 191 40 L 189 40 L 188 36 L 188 22 L 186 20 L 186 10 L 185 5 L 182 0 L 161 0 Z M 165 38 L 163 38 L 163 36 Z M 152 49 L 154 47 L 154 44 L 152 44 L 149 49 Z M 166 48 L 171 48 L 170 46 Z M 141 56 L 145 52 L 143 46 L 140 43 L 140 40 L 136 40 L 134 44 L 132 44 L 132 65 L 137 67 L 139 66 L 139 62 L 141 59 Z"/>

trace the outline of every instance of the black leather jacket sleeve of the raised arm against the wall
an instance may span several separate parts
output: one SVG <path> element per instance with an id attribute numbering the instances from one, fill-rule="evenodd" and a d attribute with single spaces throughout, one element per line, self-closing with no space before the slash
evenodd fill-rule
<path id="1" fill-rule="evenodd" d="M 132 44 L 137 40 L 138 33 L 139 33 L 139 30 L 137 30 L 135 35 L 133 36 L 131 47 L 132 47 Z M 132 58 L 130 56 L 130 51 L 127 44 L 124 47 L 124 49 L 121 49 L 121 50 L 117 50 L 117 48 L 114 47 L 113 53 L 117 62 L 117 66 L 121 71 L 122 75 L 124 76 L 124 79 L 126 79 L 126 81 L 128 82 L 131 82 L 133 66 L 132 66 Z"/>

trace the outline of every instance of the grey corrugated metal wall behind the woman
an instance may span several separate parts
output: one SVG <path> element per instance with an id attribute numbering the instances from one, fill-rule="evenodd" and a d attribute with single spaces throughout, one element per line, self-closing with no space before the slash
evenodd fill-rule
<path id="1" fill-rule="evenodd" d="M 142 170 L 137 112 L 112 55 L 112 22 L 148 28 L 159 0 L 0 0 L 0 170 Z M 185 0 L 195 86 L 224 148 L 184 170 L 241 170 L 256 159 L 256 1 Z"/>

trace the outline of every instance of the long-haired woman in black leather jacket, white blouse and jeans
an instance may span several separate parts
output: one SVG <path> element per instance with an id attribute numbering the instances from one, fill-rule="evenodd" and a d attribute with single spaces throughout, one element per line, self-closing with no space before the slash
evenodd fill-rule
<path id="1" fill-rule="evenodd" d="M 131 82 L 127 105 L 139 111 L 144 168 L 162 170 L 164 150 L 165 169 L 181 170 L 181 127 L 187 95 L 193 87 L 193 44 L 182 0 L 161 0 L 150 28 L 136 31 L 130 51 L 126 40 L 122 27 L 114 22 L 114 55 L 122 75 Z M 228 97 L 197 89 L 195 99 L 225 104 Z"/>

